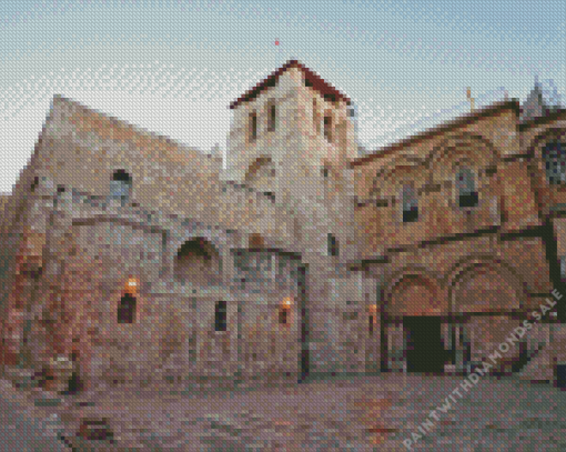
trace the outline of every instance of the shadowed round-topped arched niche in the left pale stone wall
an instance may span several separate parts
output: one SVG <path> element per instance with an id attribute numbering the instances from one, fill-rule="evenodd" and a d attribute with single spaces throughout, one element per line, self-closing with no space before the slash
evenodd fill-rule
<path id="1" fill-rule="evenodd" d="M 179 282 L 218 285 L 222 280 L 219 248 L 202 235 L 185 239 L 174 252 L 173 275 Z"/>

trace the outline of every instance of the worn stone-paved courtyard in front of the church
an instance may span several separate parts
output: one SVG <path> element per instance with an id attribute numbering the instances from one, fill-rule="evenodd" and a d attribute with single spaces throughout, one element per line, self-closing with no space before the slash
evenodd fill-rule
<path id="1" fill-rule="evenodd" d="M 62 396 L 55 406 L 50 406 L 53 400 L 2 382 L 2 396 L 18 402 L 28 416 L 48 420 L 46 434 L 60 434 L 79 451 L 403 451 L 403 441 L 420 433 L 431 410 L 462 382 L 383 374 L 209 394 L 115 391 Z M 566 450 L 566 392 L 517 378 L 484 378 L 461 393 L 445 413 L 437 410 L 439 420 L 412 450 Z M 78 436 L 82 419 L 101 418 L 112 443 Z"/>

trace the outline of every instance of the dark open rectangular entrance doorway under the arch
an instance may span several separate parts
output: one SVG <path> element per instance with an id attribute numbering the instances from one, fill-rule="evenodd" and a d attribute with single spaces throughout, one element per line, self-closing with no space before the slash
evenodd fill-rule
<path id="1" fill-rule="evenodd" d="M 406 317 L 407 372 L 441 373 L 444 371 L 446 352 L 442 343 L 439 317 Z"/>

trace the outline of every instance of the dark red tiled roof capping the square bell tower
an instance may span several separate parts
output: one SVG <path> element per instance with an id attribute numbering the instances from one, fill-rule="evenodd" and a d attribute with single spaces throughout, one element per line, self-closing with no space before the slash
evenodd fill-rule
<path id="1" fill-rule="evenodd" d="M 319 91 L 323 97 L 329 98 L 331 100 L 341 99 L 344 102 L 346 102 L 347 106 L 350 106 L 351 103 L 350 99 L 342 94 L 336 88 L 325 82 L 320 76 L 311 71 L 305 66 L 301 64 L 297 60 L 290 60 L 284 66 L 279 68 L 276 71 L 272 72 L 267 78 L 263 79 L 254 88 L 246 91 L 242 97 L 233 101 L 230 104 L 230 108 L 235 109 L 242 102 L 255 99 L 264 89 L 274 87 L 277 83 L 277 80 L 281 77 L 281 74 L 291 68 L 299 68 L 304 74 L 306 84 L 312 87 L 314 90 Z"/>

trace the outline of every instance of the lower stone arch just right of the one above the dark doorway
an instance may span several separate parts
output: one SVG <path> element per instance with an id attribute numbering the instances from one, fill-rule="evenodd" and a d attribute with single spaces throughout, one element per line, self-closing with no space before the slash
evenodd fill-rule
<path id="1" fill-rule="evenodd" d="M 445 281 L 449 312 L 454 314 L 520 310 L 528 293 L 526 283 L 511 265 L 487 255 L 473 255 L 458 261 Z M 482 294 L 479 299 L 467 299 L 467 295 L 478 293 Z"/>

